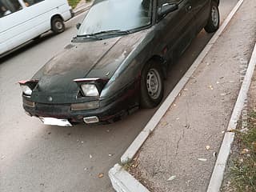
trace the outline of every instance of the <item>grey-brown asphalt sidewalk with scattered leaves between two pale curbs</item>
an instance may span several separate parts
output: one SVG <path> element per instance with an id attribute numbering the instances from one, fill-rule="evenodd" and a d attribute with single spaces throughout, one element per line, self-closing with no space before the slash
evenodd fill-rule
<path id="1" fill-rule="evenodd" d="M 244 1 L 129 166 L 154 192 L 206 191 L 256 41 L 256 2 Z"/>

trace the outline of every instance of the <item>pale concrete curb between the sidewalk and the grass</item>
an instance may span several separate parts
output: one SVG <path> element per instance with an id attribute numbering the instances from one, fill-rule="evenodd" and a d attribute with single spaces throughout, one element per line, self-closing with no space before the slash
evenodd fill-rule
<path id="1" fill-rule="evenodd" d="M 217 161 L 214 166 L 214 172 L 210 178 L 210 183 L 207 192 L 219 191 L 222 186 L 222 180 L 226 169 L 226 163 L 230 155 L 231 145 L 234 141 L 234 133 L 230 132 L 237 128 L 238 120 L 242 114 L 244 103 L 246 102 L 247 94 L 250 89 L 251 78 L 253 77 L 256 66 L 256 44 L 254 46 L 253 54 L 250 58 L 249 66 L 246 70 L 246 76 L 242 82 L 241 89 L 238 94 L 237 102 L 235 103 L 233 113 L 230 118 L 230 123 L 224 140 L 222 142 L 221 149 L 218 154 Z"/>

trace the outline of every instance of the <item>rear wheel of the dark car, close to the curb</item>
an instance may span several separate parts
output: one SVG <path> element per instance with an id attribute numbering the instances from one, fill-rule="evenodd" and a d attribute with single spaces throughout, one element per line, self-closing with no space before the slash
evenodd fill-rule
<path id="1" fill-rule="evenodd" d="M 205 30 L 207 33 L 214 33 L 216 30 L 218 30 L 219 19 L 220 19 L 220 16 L 219 16 L 219 10 L 218 10 L 218 3 L 211 2 L 210 15 L 208 18 L 208 22 L 205 26 Z"/>

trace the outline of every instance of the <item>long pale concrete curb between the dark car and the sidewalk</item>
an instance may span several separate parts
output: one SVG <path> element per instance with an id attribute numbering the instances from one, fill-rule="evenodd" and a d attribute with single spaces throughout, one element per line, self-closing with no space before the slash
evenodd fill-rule
<path id="1" fill-rule="evenodd" d="M 238 8 L 242 5 L 243 0 L 240 0 L 238 4 L 234 7 L 234 9 L 230 12 L 228 17 L 222 23 L 222 26 L 218 29 L 218 31 L 214 34 L 214 36 L 210 39 L 210 42 L 206 45 L 204 50 L 202 50 L 201 54 L 199 54 L 198 58 L 194 61 L 190 69 L 187 70 L 186 74 L 182 77 L 182 79 L 178 82 L 178 84 L 174 87 L 174 90 L 168 95 L 166 100 L 162 103 L 160 108 L 154 114 L 154 116 L 150 119 L 150 122 L 147 123 L 146 127 L 142 130 L 138 137 L 135 138 L 134 142 L 129 146 L 126 152 L 121 157 L 122 164 L 126 164 L 130 162 L 134 155 L 138 152 L 141 148 L 143 143 L 149 137 L 150 133 L 155 129 L 158 125 L 158 122 L 162 119 L 162 117 L 166 114 L 166 111 L 170 108 L 170 105 L 174 102 L 177 98 L 178 94 L 181 92 L 186 83 L 190 80 L 194 71 L 198 68 L 199 64 L 202 60 L 206 57 L 206 54 L 209 53 L 211 47 L 217 41 L 218 37 L 222 34 L 223 30 L 225 30 L 226 26 L 229 24 L 231 18 L 233 18 L 234 14 L 237 12 Z"/>

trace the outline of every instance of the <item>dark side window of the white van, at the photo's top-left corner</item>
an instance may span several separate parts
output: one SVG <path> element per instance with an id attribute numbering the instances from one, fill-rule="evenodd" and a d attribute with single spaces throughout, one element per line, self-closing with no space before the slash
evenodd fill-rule
<path id="1" fill-rule="evenodd" d="M 18 0 L 0 0 L 0 18 L 18 10 L 22 10 L 22 5 Z"/>

